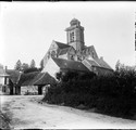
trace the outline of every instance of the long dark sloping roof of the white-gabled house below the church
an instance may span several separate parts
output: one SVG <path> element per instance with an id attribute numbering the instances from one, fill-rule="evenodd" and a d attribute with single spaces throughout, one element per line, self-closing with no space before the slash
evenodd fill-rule
<path id="1" fill-rule="evenodd" d="M 57 65 L 62 69 L 72 69 L 72 70 L 79 70 L 79 72 L 89 72 L 89 69 L 82 63 L 77 61 L 70 61 L 63 58 L 52 58 Z"/>

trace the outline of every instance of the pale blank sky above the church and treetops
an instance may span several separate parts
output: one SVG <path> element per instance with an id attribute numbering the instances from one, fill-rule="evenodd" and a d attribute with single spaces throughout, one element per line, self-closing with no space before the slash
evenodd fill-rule
<path id="1" fill-rule="evenodd" d="M 40 61 L 52 40 L 66 43 L 72 18 L 85 28 L 86 46 L 114 69 L 120 60 L 136 64 L 135 2 L 0 2 L 0 64 Z"/>

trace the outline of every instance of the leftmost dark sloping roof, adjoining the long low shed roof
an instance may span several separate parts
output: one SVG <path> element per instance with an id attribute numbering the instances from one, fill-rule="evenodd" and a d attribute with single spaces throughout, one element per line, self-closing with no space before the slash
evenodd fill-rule
<path id="1" fill-rule="evenodd" d="M 9 78 L 13 83 L 17 83 L 21 73 L 14 69 L 7 69 L 5 73 L 9 75 Z"/>

